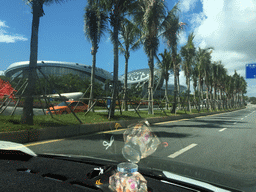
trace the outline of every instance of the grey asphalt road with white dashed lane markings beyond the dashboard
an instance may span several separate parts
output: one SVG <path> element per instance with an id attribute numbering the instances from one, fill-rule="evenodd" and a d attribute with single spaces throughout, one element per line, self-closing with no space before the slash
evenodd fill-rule
<path id="1" fill-rule="evenodd" d="M 168 146 L 153 156 L 256 178 L 256 108 L 152 125 Z M 35 153 L 121 154 L 125 129 L 27 144 Z M 111 141 L 111 136 L 112 141 Z M 165 143 L 165 144 L 166 144 Z"/>

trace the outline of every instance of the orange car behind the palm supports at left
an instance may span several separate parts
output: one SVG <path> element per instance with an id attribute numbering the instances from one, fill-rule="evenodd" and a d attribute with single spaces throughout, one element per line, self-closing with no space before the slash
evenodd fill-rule
<path id="1" fill-rule="evenodd" d="M 66 101 L 66 103 L 68 104 L 68 106 L 74 110 L 75 106 L 77 105 L 78 101 Z M 71 113 L 69 107 L 66 105 L 65 102 L 62 102 L 56 106 L 54 106 L 54 110 L 56 111 L 56 114 L 68 114 Z M 85 112 L 88 108 L 88 105 L 84 104 L 83 102 L 79 102 L 76 109 L 75 109 L 75 113 L 78 112 Z M 52 114 L 55 114 L 55 111 L 53 110 L 53 107 L 50 107 L 50 111 Z M 47 110 L 46 114 L 50 114 L 50 111 Z"/>

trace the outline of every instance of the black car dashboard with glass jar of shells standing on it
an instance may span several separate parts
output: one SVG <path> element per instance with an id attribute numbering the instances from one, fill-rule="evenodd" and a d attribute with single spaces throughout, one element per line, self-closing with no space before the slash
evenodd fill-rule
<path id="1" fill-rule="evenodd" d="M 111 161 L 87 159 L 82 162 L 73 158 L 50 155 L 33 157 L 14 150 L 1 150 L 0 157 L 0 191 L 11 192 L 110 191 L 109 177 L 114 174 L 117 166 L 117 163 Z M 99 167 L 103 169 L 103 173 L 95 169 Z M 170 180 L 161 172 L 152 174 L 140 168 L 139 172 L 147 180 L 149 192 L 212 191 Z"/>

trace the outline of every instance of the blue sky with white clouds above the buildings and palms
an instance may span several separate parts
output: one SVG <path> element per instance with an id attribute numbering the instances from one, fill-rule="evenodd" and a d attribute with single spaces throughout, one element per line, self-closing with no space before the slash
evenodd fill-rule
<path id="1" fill-rule="evenodd" d="M 165 0 L 171 10 L 178 1 Z M 31 8 L 22 0 L 1 0 L 0 71 L 12 63 L 28 61 L 32 26 Z M 91 65 L 91 43 L 84 35 L 86 0 L 67 0 L 44 5 L 40 18 L 38 60 L 65 61 Z M 256 0 L 180 0 L 180 21 L 186 27 L 179 34 L 178 47 L 194 32 L 195 46 L 214 47 L 212 61 L 222 61 L 229 75 L 245 77 L 245 66 L 256 63 Z M 158 53 L 167 48 L 160 38 Z M 96 55 L 96 67 L 113 72 L 113 44 L 106 33 Z M 155 62 L 156 63 L 156 62 Z M 119 55 L 119 76 L 124 74 L 124 55 Z M 130 53 L 128 71 L 148 68 L 141 47 Z M 173 79 L 169 83 L 173 83 Z M 256 79 L 246 79 L 247 96 L 256 96 Z M 181 72 L 180 84 L 185 85 Z M 191 83 L 191 87 L 192 83 Z M 193 88 L 192 88 L 193 92 Z"/>

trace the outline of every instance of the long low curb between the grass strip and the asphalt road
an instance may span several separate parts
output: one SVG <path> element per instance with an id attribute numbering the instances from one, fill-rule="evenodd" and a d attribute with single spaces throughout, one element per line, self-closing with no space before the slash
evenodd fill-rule
<path id="1" fill-rule="evenodd" d="M 213 114 L 219 114 L 219 113 L 225 113 L 225 112 L 231 112 L 231 111 L 235 111 L 235 110 L 198 113 L 198 114 L 183 114 L 183 115 L 167 116 L 167 117 L 153 117 L 153 118 L 135 119 L 135 120 L 121 120 L 117 122 L 104 122 L 104 123 L 63 126 L 63 127 L 48 127 L 48 128 L 31 129 L 31 130 L 24 130 L 24 131 L 4 132 L 4 133 L 0 133 L 0 140 L 24 144 L 24 143 L 30 143 L 30 142 L 36 142 L 36 141 L 61 139 L 66 137 L 86 135 L 86 134 L 97 133 L 101 131 L 117 130 L 121 128 L 126 128 L 131 124 L 136 124 L 140 121 L 145 121 L 145 120 L 147 120 L 150 124 L 154 124 L 154 123 L 160 123 L 164 121 L 191 119 L 199 116 L 207 116 L 207 115 L 213 115 Z"/>

